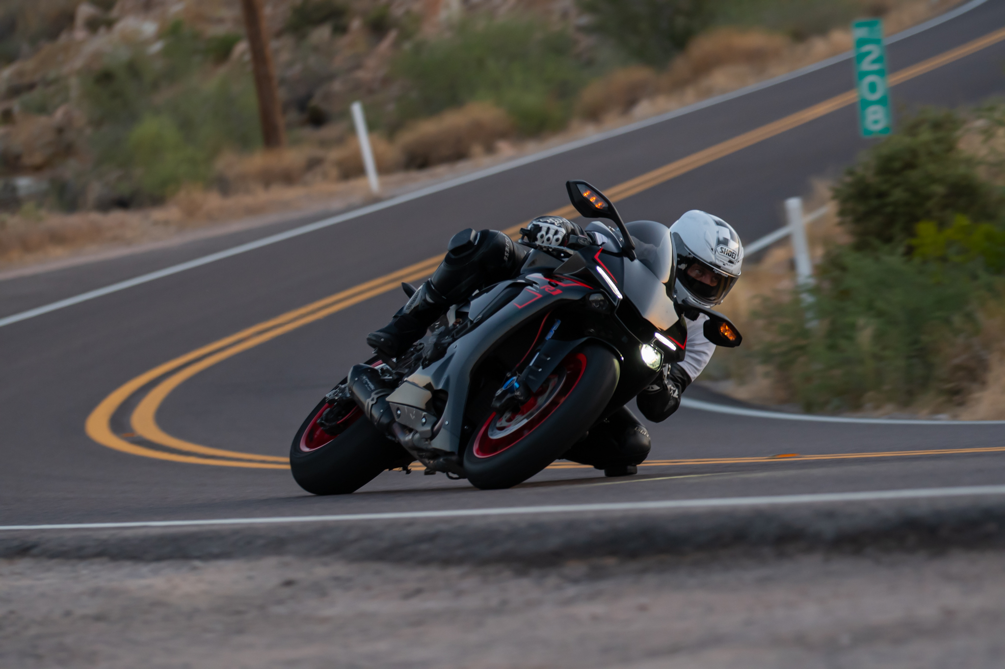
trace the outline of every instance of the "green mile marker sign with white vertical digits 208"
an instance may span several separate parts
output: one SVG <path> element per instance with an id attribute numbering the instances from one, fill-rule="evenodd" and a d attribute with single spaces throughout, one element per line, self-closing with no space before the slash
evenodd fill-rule
<path id="1" fill-rule="evenodd" d="M 863 137 L 889 134 L 889 89 L 886 86 L 886 50 L 882 21 L 851 24 L 855 40 L 855 77 L 858 80 L 858 126 Z"/>

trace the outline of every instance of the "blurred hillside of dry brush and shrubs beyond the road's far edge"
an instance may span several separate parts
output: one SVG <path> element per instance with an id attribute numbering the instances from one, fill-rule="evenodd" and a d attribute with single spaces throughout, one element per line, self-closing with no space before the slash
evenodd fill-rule
<path id="1" fill-rule="evenodd" d="M 679 107 L 846 49 L 856 16 L 897 30 L 957 1 L 276 0 L 289 145 L 266 155 L 237 3 L 10 0 L 0 261 L 121 238 L 90 212 L 177 212 L 141 214 L 142 236 L 331 198 L 363 173 L 356 99 L 382 174 L 427 170 Z"/>

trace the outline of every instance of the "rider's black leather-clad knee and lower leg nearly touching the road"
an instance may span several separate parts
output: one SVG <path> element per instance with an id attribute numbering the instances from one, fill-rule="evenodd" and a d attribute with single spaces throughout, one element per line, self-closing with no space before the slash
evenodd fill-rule
<path id="1" fill-rule="evenodd" d="M 648 430 L 622 406 L 591 427 L 562 457 L 603 469 L 607 476 L 629 476 L 638 471 L 651 447 Z"/>

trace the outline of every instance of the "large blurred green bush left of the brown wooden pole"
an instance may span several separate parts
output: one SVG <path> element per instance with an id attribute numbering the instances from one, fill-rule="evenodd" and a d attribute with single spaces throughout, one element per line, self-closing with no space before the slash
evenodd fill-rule
<path id="1" fill-rule="evenodd" d="M 214 58 L 212 40 L 181 22 L 163 38 L 157 54 L 112 56 L 81 76 L 96 172 L 124 202 L 162 201 L 186 182 L 204 182 L 223 149 L 261 144 L 249 72 L 203 67 Z M 152 156 L 162 149 L 159 164 Z"/>

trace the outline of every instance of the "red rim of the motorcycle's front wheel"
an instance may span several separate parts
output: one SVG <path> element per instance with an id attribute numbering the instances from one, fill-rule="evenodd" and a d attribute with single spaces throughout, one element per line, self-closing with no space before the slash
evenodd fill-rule
<path id="1" fill-rule="evenodd" d="M 517 445 L 562 405 L 586 371 L 586 356 L 573 353 L 541 384 L 534 397 L 501 416 L 492 413 L 471 446 L 476 457 L 491 457 Z"/>

